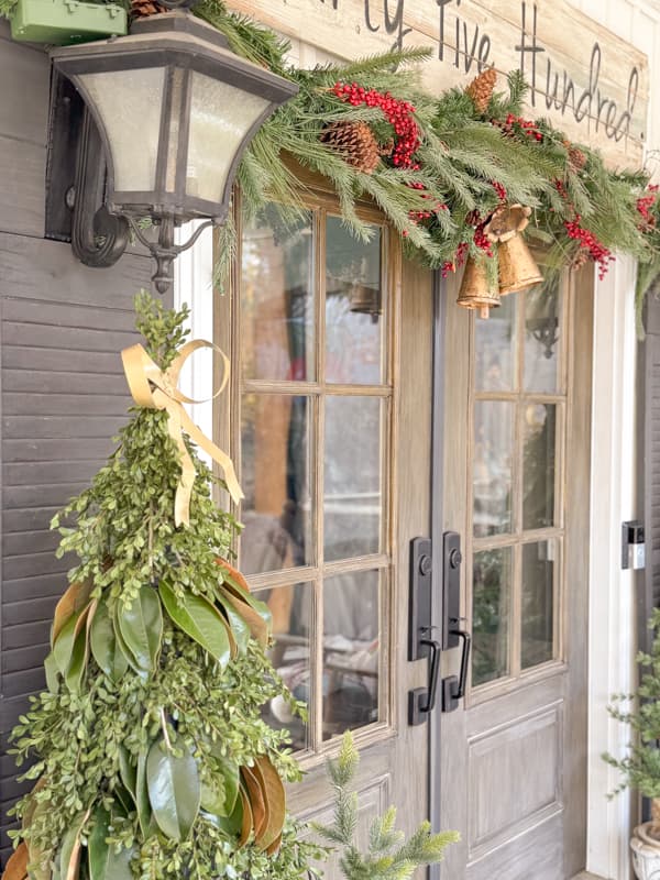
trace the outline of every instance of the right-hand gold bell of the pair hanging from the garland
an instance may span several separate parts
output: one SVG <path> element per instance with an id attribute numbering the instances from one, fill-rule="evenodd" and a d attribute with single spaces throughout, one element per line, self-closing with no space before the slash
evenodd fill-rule
<path id="1" fill-rule="evenodd" d="M 531 251 L 520 235 L 529 223 L 530 215 L 531 208 L 522 205 L 503 205 L 484 227 L 488 240 L 497 242 L 501 296 L 525 290 L 543 280 Z"/>

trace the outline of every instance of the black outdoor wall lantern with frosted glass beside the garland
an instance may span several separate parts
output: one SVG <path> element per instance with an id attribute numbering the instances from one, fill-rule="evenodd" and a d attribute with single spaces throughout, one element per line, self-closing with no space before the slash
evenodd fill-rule
<path id="1" fill-rule="evenodd" d="M 87 108 L 66 193 L 74 253 L 88 266 L 110 266 L 132 229 L 156 260 L 153 282 L 163 294 L 174 258 L 227 218 L 244 150 L 297 87 L 234 55 L 222 34 L 187 10 L 51 56 Z M 57 175 L 53 163 L 50 175 Z M 145 235 L 147 218 L 157 240 Z M 175 244 L 175 228 L 199 218 L 207 222 Z"/>

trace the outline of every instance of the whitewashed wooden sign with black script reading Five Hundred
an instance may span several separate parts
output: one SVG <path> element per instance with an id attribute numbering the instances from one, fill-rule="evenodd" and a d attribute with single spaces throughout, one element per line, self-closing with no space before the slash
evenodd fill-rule
<path id="1" fill-rule="evenodd" d="M 428 46 L 424 82 L 435 94 L 485 67 L 518 67 L 528 114 L 601 150 L 608 164 L 639 166 L 649 100 L 644 53 L 566 0 L 229 0 L 287 36 L 339 58 L 392 46 Z M 505 88 L 504 77 L 498 88 Z"/>

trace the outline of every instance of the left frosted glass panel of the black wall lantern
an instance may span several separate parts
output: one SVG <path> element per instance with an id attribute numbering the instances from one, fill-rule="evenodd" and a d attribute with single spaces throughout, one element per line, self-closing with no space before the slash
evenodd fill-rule
<path id="1" fill-rule="evenodd" d="M 156 185 L 164 67 L 81 74 L 112 154 L 114 189 L 147 193 Z"/>

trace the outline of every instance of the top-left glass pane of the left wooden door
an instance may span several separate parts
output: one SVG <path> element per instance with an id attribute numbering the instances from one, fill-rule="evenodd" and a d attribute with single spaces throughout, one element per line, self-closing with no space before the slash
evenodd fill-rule
<path id="1" fill-rule="evenodd" d="M 275 208 L 243 231 L 243 378 L 314 381 L 311 216 L 283 223 Z"/>

